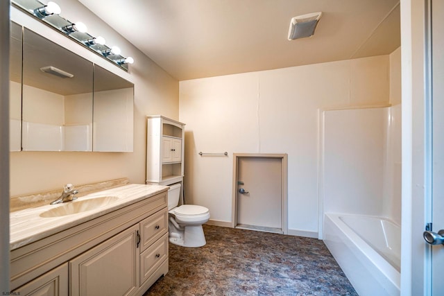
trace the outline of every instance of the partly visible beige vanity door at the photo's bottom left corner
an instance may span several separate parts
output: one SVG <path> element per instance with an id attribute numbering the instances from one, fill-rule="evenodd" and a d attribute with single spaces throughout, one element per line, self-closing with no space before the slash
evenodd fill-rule
<path id="1" fill-rule="evenodd" d="M 46 272 L 28 284 L 12 291 L 11 295 L 65 296 L 68 295 L 68 263 Z"/>

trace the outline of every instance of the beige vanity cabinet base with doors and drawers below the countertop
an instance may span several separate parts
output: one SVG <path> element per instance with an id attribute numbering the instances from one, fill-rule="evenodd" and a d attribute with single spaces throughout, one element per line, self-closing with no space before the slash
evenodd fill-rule
<path id="1" fill-rule="evenodd" d="M 143 295 L 168 272 L 167 202 L 165 188 L 12 250 L 12 291 L 19 295 Z"/>

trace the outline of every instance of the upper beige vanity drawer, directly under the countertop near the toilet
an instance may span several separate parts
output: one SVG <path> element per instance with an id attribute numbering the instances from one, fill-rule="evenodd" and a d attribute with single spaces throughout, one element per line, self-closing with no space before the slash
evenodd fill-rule
<path id="1" fill-rule="evenodd" d="M 163 209 L 157 214 L 153 214 L 140 222 L 141 232 L 141 247 L 140 252 L 143 252 L 152 243 L 157 241 L 160 236 L 168 231 L 168 212 Z"/>

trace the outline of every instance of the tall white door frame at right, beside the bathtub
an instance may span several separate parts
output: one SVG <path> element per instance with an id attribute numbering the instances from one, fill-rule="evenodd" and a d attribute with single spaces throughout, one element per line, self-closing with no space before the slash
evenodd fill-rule
<path id="1" fill-rule="evenodd" d="M 425 0 L 401 0 L 402 220 L 401 295 L 427 295 Z"/>

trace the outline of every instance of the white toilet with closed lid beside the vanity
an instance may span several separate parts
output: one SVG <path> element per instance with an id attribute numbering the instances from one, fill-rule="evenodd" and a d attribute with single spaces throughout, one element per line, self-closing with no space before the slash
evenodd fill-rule
<path id="1" fill-rule="evenodd" d="M 183 247 L 202 247 L 207 243 L 202 225 L 210 219 L 206 207 L 182 204 L 178 207 L 180 183 L 170 185 L 168 191 L 169 242 Z"/>

